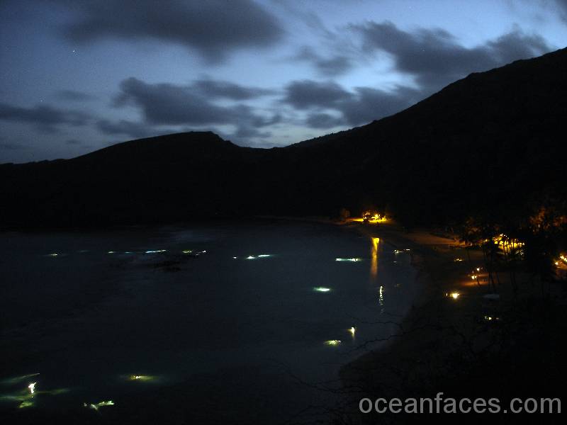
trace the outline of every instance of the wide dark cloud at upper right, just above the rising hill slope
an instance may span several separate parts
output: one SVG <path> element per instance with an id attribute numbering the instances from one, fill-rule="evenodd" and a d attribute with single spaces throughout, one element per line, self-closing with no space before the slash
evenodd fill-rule
<path id="1" fill-rule="evenodd" d="M 427 93 L 471 72 L 485 71 L 551 50 L 539 35 L 526 35 L 520 30 L 467 48 L 442 29 L 408 32 L 388 21 L 369 22 L 352 28 L 361 33 L 366 52 L 388 52 L 398 71 L 414 75 L 417 84 Z"/>

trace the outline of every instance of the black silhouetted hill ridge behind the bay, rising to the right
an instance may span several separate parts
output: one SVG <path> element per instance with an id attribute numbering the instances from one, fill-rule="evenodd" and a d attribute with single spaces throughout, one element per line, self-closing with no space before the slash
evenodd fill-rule
<path id="1" fill-rule="evenodd" d="M 210 132 L 0 166 L 1 225 L 335 215 L 374 206 L 408 222 L 523 214 L 566 200 L 567 50 L 471 74 L 398 114 L 279 149 Z"/>

